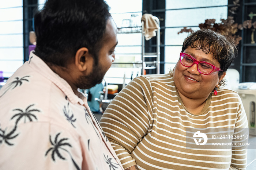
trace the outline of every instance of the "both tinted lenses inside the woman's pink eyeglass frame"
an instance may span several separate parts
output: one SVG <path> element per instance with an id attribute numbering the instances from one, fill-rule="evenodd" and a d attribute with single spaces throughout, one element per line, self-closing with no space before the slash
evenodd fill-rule
<path id="1" fill-rule="evenodd" d="M 184 66 L 190 67 L 193 65 L 193 63 L 195 63 L 195 60 L 188 55 L 182 54 L 181 63 Z M 213 70 L 213 67 L 211 65 L 209 65 L 207 63 L 203 63 L 203 62 L 200 62 L 198 64 L 197 68 L 198 68 L 199 72 L 204 73 L 204 74 L 211 73 L 211 71 Z"/>

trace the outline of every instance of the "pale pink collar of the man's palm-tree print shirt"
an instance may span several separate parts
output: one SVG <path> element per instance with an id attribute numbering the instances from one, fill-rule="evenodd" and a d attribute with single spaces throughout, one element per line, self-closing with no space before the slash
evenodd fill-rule
<path id="1" fill-rule="evenodd" d="M 67 81 L 65 81 L 63 78 L 61 78 L 58 74 L 54 73 L 52 69 L 44 62 L 41 58 L 39 58 L 37 55 L 33 53 L 34 51 L 30 52 L 29 61 L 28 64 L 39 74 L 44 76 L 45 78 L 52 81 L 58 88 L 60 88 L 63 93 L 68 97 L 69 101 L 72 104 L 79 103 L 81 105 L 86 104 L 87 99 L 84 95 L 80 95 L 81 98 L 76 96 L 76 94 L 73 92 L 71 86 L 68 84 Z M 82 93 L 82 92 L 80 92 Z M 84 98 L 84 97 L 85 98 Z"/>

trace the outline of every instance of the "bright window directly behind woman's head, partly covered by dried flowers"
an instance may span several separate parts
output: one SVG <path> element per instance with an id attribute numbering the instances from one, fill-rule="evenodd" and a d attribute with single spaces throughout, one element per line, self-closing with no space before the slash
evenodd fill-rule
<path id="1" fill-rule="evenodd" d="M 206 19 L 227 19 L 227 0 L 166 0 L 165 11 L 165 73 L 173 69 L 179 59 L 187 32 L 177 34 L 183 27 L 199 30 Z M 162 28 L 161 28 L 162 29 Z"/>

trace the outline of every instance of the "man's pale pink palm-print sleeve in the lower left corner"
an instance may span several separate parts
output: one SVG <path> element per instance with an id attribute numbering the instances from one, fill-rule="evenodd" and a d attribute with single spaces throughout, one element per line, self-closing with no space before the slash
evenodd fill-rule
<path id="1" fill-rule="evenodd" d="M 79 138 L 63 127 L 29 122 L 6 128 L 11 139 L 0 145 L 0 169 L 77 170 L 82 167 Z"/>

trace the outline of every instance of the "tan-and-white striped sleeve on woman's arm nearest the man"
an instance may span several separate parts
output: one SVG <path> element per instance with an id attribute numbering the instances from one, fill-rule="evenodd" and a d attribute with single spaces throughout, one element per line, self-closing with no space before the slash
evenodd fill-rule
<path id="1" fill-rule="evenodd" d="M 131 152 L 148 133 L 152 110 L 151 84 L 137 77 L 117 94 L 102 115 L 100 125 L 124 169 L 136 165 Z"/>

